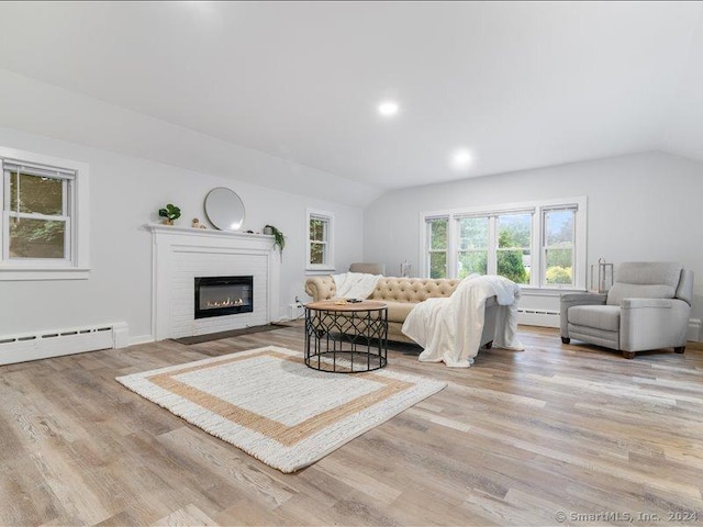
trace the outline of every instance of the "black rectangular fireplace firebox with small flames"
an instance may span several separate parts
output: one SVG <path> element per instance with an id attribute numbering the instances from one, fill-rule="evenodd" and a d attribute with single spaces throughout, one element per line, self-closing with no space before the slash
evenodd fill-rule
<path id="1" fill-rule="evenodd" d="M 254 311 L 254 277 L 196 278 L 196 318 Z"/>

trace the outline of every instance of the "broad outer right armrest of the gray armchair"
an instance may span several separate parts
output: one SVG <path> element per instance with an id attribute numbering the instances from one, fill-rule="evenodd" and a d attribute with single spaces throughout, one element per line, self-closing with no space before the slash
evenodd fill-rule
<path id="1" fill-rule="evenodd" d="M 679 299 L 623 299 L 620 345 L 623 351 L 685 346 L 691 306 Z"/>

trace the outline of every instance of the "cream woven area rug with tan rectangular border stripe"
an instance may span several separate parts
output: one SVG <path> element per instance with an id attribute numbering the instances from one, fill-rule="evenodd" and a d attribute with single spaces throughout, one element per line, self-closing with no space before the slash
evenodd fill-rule
<path id="1" fill-rule="evenodd" d="M 281 472 L 294 472 L 444 389 L 388 369 L 339 374 L 267 346 L 116 378 Z"/>

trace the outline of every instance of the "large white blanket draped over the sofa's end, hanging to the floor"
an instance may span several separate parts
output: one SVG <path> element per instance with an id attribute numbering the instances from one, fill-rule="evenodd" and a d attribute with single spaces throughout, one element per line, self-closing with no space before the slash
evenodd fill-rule
<path id="1" fill-rule="evenodd" d="M 424 348 L 420 360 L 469 368 L 479 352 L 486 301 L 491 296 L 499 303 L 493 346 L 524 349 L 515 335 L 520 287 L 503 277 L 471 274 L 451 296 L 427 299 L 405 318 L 403 333 Z"/>

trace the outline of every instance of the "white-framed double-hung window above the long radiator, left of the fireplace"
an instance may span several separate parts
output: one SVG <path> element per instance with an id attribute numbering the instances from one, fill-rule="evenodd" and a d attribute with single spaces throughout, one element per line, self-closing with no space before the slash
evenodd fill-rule
<path id="1" fill-rule="evenodd" d="M 87 278 L 87 167 L 5 148 L 0 164 L 0 280 Z"/>

